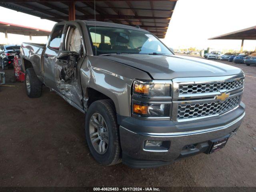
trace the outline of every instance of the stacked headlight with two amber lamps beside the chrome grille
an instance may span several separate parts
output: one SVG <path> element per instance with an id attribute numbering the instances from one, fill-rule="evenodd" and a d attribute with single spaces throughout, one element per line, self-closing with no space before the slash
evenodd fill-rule
<path id="1" fill-rule="evenodd" d="M 134 80 L 132 114 L 141 117 L 170 117 L 171 81 Z"/>

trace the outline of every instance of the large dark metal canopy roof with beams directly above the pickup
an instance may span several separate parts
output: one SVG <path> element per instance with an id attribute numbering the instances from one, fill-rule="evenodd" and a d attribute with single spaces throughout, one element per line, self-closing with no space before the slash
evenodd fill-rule
<path id="1" fill-rule="evenodd" d="M 0 6 L 55 22 L 68 20 L 75 2 L 77 20 L 94 20 L 94 0 L 1 0 Z M 164 38 L 177 0 L 95 0 L 96 20 L 139 25 Z"/>

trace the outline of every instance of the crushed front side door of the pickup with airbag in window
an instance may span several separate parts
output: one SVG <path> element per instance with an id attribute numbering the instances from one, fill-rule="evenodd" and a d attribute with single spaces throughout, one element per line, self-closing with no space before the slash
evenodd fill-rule
<path id="1" fill-rule="evenodd" d="M 80 85 L 80 67 L 82 65 L 85 48 L 82 44 L 82 30 L 74 22 L 66 22 L 62 53 L 54 66 L 55 84 L 58 92 L 73 106 L 83 109 L 82 89 Z M 68 55 L 76 53 L 76 57 Z M 68 55 L 62 57 L 62 55 Z"/>

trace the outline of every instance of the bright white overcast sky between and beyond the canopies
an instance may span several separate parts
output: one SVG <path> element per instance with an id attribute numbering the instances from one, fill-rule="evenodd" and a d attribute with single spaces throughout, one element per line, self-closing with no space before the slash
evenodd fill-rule
<path id="1" fill-rule="evenodd" d="M 171 48 L 240 50 L 241 40 L 208 40 L 221 34 L 256 26 L 256 0 L 178 0 L 165 39 Z M 0 7 L 0 21 L 51 30 L 55 22 Z M 8 16 L 7 16 L 8 15 Z M 6 17 L 4 17 L 6 16 Z M 9 43 L 29 42 L 29 36 L 8 34 Z M 46 43 L 47 37 L 32 37 Z M 5 42 L 0 33 L 0 44 Z M 256 40 L 244 40 L 244 50 L 255 50 Z"/>

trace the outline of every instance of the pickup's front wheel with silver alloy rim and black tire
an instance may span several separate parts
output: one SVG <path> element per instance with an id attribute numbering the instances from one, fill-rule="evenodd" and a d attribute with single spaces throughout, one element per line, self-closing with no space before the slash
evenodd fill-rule
<path id="1" fill-rule="evenodd" d="M 85 135 L 94 159 L 110 166 L 121 161 L 119 129 L 112 100 L 93 102 L 85 119 Z"/>

